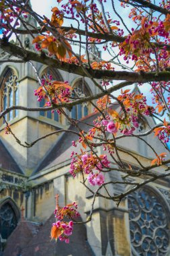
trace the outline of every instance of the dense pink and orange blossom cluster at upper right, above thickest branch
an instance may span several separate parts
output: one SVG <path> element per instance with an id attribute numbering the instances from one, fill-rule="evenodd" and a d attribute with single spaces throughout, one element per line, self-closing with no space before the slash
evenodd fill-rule
<path id="1" fill-rule="evenodd" d="M 156 49 L 156 47 L 151 44 L 150 40 L 159 36 L 163 38 L 165 43 L 169 42 L 170 15 L 168 14 L 165 20 L 159 20 L 158 22 L 155 22 L 157 18 L 148 21 L 146 17 L 142 17 L 142 13 L 136 15 L 136 11 L 132 11 L 130 17 L 135 17 L 136 20 L 140 20 L 141 28 L 139 30 L 134 30 L 134 28 L 132 28 L 132 34 L 128 35 L 126 40 L 119 46 L 120 55 L 124 55 L 126 63 L 129 62 L 129 59 L 138 61 L 138 59 L 141 59 L 141 56 L 145 55 L 151 57 L 151 55 L 155 55 L 155 53 L 159 53 L 159 56 L 157 56 L 157 54 L 155 55 L 155 58 L 158 58 L 159 61 L 162 59 L 169 59 L 169 53 L 166 51 L 166 46 L 159 51 L 159 49 Z M 165 61 L 165 63 L 165 67 L 162 68 L 166 68 L 167 61 Z M 163 66 L 163 64 L 161 66 Z"/>

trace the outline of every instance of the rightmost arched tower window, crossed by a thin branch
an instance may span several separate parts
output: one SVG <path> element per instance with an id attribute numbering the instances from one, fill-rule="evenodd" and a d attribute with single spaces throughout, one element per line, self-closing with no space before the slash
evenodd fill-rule
<path id="1" fill-rule="evenodd" d="M 79 81 L 76 82 L 75 86 L 73 87 L 72 97 L 79 99 L 89 95 L 90 95 L 90 92 L 86 84 L 83 85 L 83 79 L 79 79 Z M 90 106 L 88 102 L 83 102 L 83 104 L 78 104 L 76 106 L 73 106 L 71 110 L 71 118 L 81 119 L 82 117 L 87 116 L 89 112 L 90 112 Z"/>

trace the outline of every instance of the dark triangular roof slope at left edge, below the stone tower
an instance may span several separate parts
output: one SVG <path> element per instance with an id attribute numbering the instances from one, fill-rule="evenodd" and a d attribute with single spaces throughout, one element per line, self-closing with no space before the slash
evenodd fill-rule
<path id="1" fill-rule="evenodd" d="M 7 151 L 2 141 L 0 140 L 0 168 L 5 170 L 10 170 L 11 172 L 16 172 L 23 174 L 22 170 L 19 168 L 11 154 Z"/>

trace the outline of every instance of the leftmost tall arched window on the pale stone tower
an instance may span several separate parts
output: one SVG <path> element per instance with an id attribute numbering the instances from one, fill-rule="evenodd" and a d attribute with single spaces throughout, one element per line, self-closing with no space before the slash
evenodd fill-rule
<path id="1" fill-rule="evenodd" d="M 5 75 L 3 75 L 3 78 L 1 79 L 0 88 L 3 109 L 19 103 L 17 74 L 13 69 L 7 69 Z M 12 110 L 5 116 L 5 118 L 9 121 L 14 117 L 17 117 L 17 115 L 18 110 Z"/>

